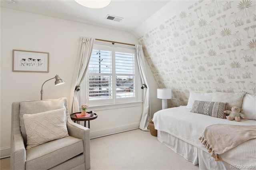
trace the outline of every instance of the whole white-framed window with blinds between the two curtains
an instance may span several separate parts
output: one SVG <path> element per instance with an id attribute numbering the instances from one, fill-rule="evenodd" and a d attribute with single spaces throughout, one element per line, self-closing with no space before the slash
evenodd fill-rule
<path id="1" fill-rule="evenodd" d="M 84 81 L 84 103 L 105 105 L 138 101 L 135 48 L 94 44 Z"/>

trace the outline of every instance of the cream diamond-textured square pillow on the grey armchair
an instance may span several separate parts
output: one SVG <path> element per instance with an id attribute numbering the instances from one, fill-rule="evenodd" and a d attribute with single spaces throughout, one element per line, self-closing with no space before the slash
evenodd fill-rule
<path id="1" fill-rule="evenodd" d="M 68 136 L 66 108 L 25 114 L 23 119 L 27 134 L 26 149 Z"/>

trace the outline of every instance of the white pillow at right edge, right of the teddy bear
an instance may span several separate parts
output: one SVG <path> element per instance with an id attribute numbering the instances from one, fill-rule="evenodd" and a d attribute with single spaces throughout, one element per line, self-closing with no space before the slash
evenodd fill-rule
<path id="1" fill-rule="evenodd" d="M 256 95 L 245 94 L 242 109 L 241 113 L 243 113 L 247 119 L 256 120 Z"/>

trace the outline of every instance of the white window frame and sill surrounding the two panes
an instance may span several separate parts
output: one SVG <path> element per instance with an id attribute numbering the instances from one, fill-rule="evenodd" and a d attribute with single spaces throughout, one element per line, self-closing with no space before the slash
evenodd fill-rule
<path id="1" fill-rule="evenodd" d="M 128 50 L 134 50 L 134 81 L 135 81 L 135 97 L 127 97 L 127 98 L 116 98 L 116 95 L 113 95 L 112 99 L 99 99 L 99 100 L 89 100 L 89 70 L 86 72 L 85 78 L 82 82 L 79 98 L 80 98 L 80 104 L 86 103 L 87 105 L 93 106 L 101 106 L 101 105 L 120 105 L 125 103 L 134 103 L 134 102 L 142 102 L 142 91 L 140 90 L 140 85 L 142 84 L 140 79 L 140 73 L 138 69 L 138 61 L 136 58 L 136 51 L 135 47 L 131 45 L 112 45 L 111 43 L 100 43 L 95 42 L 94 45 L 96 46 L 104 46 L 107 48 L 112 48 L 112 65 L 115 63 L 115 58 L 113 57 L 114 53 L 117 51 L 116 49 L 123 48 Z M 95 46 L 94 46 L 95 47 Z M 98 47 L 97 47 L 98 48 Z M 106 48 L 104 48 L 106 49 Z M 119 50 L 120 51 L 120 50 Z M 124 51 L 124 50 L 123 50 Z M 112 87 L 113 87 L 113 94 L 116 94 L 116 73 L 115 73 L 115 64 L 112 68 Z M 113 82 L 115 84 L 113 84 Z M 85 95 L 83 95 L 85 94 Z"/>

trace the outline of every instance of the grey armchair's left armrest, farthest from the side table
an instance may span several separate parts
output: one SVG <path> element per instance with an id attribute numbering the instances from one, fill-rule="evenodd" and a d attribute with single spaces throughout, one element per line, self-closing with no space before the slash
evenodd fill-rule
<path id="1" fill-rule="evenodd" d="M 11 169 L 25 170 L 26 165 L 26 149 L 21 134 L 14 134 L 13 147 L 11 147 Z"/>

